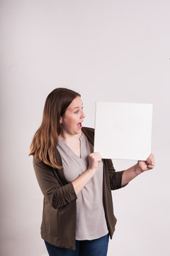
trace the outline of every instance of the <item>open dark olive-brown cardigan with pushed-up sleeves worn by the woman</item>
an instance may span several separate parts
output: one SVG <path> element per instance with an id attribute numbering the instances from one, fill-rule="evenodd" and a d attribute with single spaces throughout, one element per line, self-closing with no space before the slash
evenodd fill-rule
<path id="1" fill-rule="evenodd" d="M 82 132 L 94 146 L 94 128 L 82 127 Z M 55 149 L 57 164 L 62 166 L 62 159 Z M 123 171 L 115 171 L 111 159 L 103 161 L 103 207 L 110 238 L 115 231 L 117 219 L 113 213 L 111 190 L 123 188 Z M 41 237 L 57 247 L 76 250 L 77 194 L 72 182 L 64 177 L 62 169 L 54 169 L 33 156 L 33 167 L 40 189 L 44 195 Z"/>

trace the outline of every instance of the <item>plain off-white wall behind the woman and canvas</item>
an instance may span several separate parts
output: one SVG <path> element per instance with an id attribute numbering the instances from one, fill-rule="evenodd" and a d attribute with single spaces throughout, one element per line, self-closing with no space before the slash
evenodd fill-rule
<path id="1" fill-rule="evenodd" d="M 55 87 L 95 101 L 152 102 L 156 166 L 113 191 L 108 256 L 168 256 L 170 4 L 167 0 L 1 0 L 1 255 L 45 256 L 42 193 L 29 154 Z M 114 161 L 116 171 L 137 161 Z"/>

